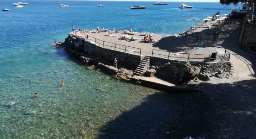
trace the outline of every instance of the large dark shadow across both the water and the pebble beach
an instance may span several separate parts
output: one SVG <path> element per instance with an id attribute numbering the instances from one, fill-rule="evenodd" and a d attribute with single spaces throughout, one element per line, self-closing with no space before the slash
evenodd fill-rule
<path id="1" fill-rule="evenodd" d="M 201 83 L 205 92 L 149 95 L 101 127 L 99 139 L 256 137 L 256 80 Z M 169 132 L 169 133 L 167 133 Z"/>

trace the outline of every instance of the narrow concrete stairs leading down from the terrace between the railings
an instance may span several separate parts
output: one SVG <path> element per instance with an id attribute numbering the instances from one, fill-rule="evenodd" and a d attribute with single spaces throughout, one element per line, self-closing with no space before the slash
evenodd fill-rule
<path id="1" fill-rule="evenodd" d="M 135 69 L 135 71 L 133 72 L 133 75 L 136 75 L 136 76 L 143 76 L 143 74 L 144 74 L 144 73 L 146 72 L 146 70 L 148 69 L 149 60 L 150 60 L 150 56 L 145 56 L 145 57 L 143 57 L 143 59 L 141 60 L 141 63 L 139 64 L 139 66 L 137 67 L 137 69 Z"/>

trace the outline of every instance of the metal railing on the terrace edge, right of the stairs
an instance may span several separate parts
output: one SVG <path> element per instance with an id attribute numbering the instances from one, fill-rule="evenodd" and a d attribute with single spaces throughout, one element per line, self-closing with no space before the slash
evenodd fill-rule
<path id="1" fill-rule="evenodd" d="M 225 50 L 224 55 L 216 55 L 217 53 L 212 53 L 210 55 L 205 54 L 190 54 L 190 53 L 173 53 L 168 51 L 162 50 L 152 50 L 152 57 L 163 57 L 167 59 L 174 59 L 174 60 L 182 60 L 182 61 L 229 61 L 230 60 L 230 53 Z"/>

